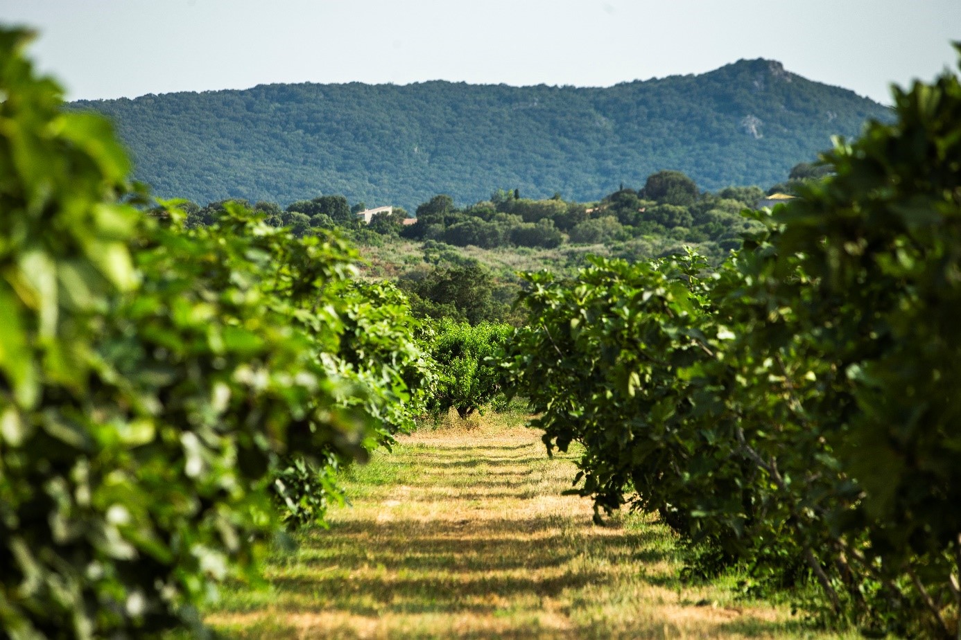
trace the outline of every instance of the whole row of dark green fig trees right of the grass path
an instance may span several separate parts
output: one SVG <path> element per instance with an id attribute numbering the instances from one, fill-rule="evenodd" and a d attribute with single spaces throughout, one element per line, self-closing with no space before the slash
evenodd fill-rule
<path id="1" fill-rule="evenodd" d="M 516 391 L 583 445 L 597 508 L 661 513 L 825 618 L 958 637 L 961 84 L 896 90 L 716 270 L 688 254 L 530 276 Z"/>

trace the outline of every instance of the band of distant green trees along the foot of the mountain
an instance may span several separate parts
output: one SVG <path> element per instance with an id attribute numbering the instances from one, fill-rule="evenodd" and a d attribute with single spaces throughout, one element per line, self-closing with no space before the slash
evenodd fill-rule
<path id="1" fill-rule="evenodd" d="M 805 180 L 820 177 L 807 163 L 797 165 L 790 180 L 775 190 L 793 191 Z M 201 207 L 187 201 L 188 225 L 206 225 L 229 201 L 264 214 L 268 225 L 289 226 L 297 235 L 311 229 L 339 228 L 361 244 L 378 243 L 378 236 L 403 236 L 432 240 L 455 247 L 481 249 L 528 247 L 553 249 L 564 244 L 609 244 L 633 238 L 658 237 L 679 243 L 703 245 L 707 253 L 723 255 L 739 246 L 740 234 L 751 228 L 740 215 L 754 208 L 765 192 L 759 187 L 727 187 L 718 193 L 702 192 L 691 178 L 677 171 L 649 176 L 637 189 L 621 188 L 599 202 L 564 201 L 559 194 L 549 200 L 520 197 L 518 189 L 498 189 L 487 201 L 457 207 L 446 194 L 434 196 L 416 209 L 416 224 L 405 225 L 407 211 L 395 207 L 376 214 L 364 225 L 343 196 L 318 196 L 294 201 L 283 209 L 276 202 L 244 200 L 209 202 Z"/>

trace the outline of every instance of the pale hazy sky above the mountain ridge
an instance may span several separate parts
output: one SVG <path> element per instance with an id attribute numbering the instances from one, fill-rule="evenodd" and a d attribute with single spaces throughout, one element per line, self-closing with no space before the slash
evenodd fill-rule
<path id="1" fill-rule="evenodd" d="M 889 103 L 956 68 L 961 0 L 0 0 L 70 99 L 260 83 L 603 86 L 777 59 Z"/>

